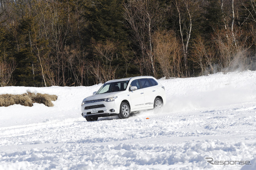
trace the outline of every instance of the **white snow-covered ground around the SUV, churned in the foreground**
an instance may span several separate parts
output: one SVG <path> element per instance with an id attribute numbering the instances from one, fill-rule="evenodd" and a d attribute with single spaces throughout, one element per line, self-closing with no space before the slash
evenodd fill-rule
<path id="1" fill-rule="evenodd" d="M 96 122 L 80 104 L 101 85 L 0 87 L 58 96 L 54 107 L 0 107 L 0 170 L 256 169 L 256 71 L 159 81 L 159 113 Z"/>

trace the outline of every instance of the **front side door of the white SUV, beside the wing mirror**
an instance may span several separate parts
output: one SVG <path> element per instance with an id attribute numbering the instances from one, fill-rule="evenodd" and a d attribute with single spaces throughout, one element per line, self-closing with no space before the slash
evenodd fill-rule
<path id="1" fill-rule="evenodd" d="M 140 109 L 145 105 L 144 90 L 140 87 L 138 79 L 132 81 L 130 87 L 132 86 L 136 86 L 137 90 L 130 91 L 129 89 L 129 95 L 131 99 L 131 110 Z"/>

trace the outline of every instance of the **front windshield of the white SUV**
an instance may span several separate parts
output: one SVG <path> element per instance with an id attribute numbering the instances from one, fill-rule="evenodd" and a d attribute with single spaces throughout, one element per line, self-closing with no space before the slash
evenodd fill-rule
<path id="1" fill-rule="evenodd" d="M 116 91 L 125 91 L 129 81 L 118 81 L 113 83 L 105 83 L 96 94 L 112 93 Z"/>

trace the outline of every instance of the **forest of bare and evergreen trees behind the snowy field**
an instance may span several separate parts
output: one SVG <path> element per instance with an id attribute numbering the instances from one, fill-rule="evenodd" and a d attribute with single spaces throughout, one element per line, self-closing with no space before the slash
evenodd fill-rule
<path id="1" fill-rule="evenodd" d="M 255 0 L 0 0 L 0 86 L 256 69 Z"/>

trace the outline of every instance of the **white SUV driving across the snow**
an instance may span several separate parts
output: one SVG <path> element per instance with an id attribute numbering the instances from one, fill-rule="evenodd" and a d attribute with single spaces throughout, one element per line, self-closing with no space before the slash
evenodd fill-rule
<path id="1" fill-rule="evenodd" d="M 107 81 L 81 105 L 87 121 L 118 115 L 130 117 L 131 112 L 162 107 L 166 103 L 164 86 L 152 76 L 130 77 Z"/>

